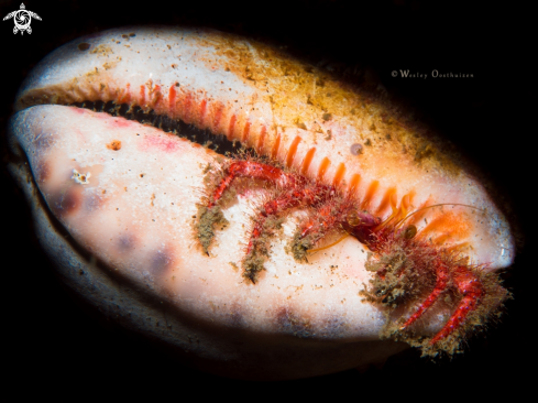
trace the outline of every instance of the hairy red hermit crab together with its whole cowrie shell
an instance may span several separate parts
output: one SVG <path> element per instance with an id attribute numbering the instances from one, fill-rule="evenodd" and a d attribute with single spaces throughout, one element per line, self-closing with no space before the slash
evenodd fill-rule
<path id="1" fill-rule="evenodd" d="M 43 59 L 15 109 L 10 170 L 65 283 L 204 370 L 452 355 L 509 297 L 514 237 L 473 170 L 281 50 L 106 31 Z"/>

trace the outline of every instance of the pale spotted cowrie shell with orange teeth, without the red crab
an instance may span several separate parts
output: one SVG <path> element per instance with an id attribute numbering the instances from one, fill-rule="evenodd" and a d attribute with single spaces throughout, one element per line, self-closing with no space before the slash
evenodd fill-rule
<path id="1" fill-rule="evenodd" d="M 286 252 L 300 211 L 273 240 L 259 283 L 244 281 L 238 266 L 263 188 L 239 193 L 224 209 L 228 228 L 202 253 L 197 205 L 208 164 L 223 157 L 147 124 L 66 106 L 98 100 L 241 141 L 380 217 L 447 204 L 408 219 L 417 237 L 487 270 L 514 260 L 504 215 L 442 142 L 322 70 L 212 31 L 123 29 L 74 41 L 20 89 L 10 141 L 30 165 L 11 170 L 26 194 L 43 196 L 34 199 L 37 231 L 68 286 L 205 370 L 301 378 L 376 362 L 405 345 L 380 340 L 386 318 L 360 295 L 371 274 L 358 240 L 308 262 Z M 34 182 L 25 181 L 28 166 Z M 437 314 L 418 331 L 437 331 L 449 313 Z"/>

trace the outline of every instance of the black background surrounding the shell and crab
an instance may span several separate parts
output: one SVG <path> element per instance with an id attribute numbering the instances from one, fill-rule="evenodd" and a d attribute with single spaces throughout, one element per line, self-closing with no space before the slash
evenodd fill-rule
<path id="1" fill-rule="evenodd" d="M 196 392 L 198 396 L 218 393 L 224 399 L 233 393 L 256 399 L 254 393 L 268 389 L 299 399 L 310 393 L 331 397 L 352 393 L 359 400 L 375 393 L 382 400 L 393 394 L 483 400 L 501 391 L 515 396 L 527 388 L 526 377 L 532 369 L 524 369 L 524 363 L 536 366 L 536 325 L 530 309 L 536 264 L 529 250 L 537 209 L 529 190 L 536 187 L 534 139 L 538 134 L 532 124 L 536 64 L 530 62 L 536 32 L 532 40 L 529 10 L 502 3 L 431 6 L 406 0 L 24 4 L 42 18 L 32 21 L 31 35 L 13 35 L 12 20 L 0 23 L 2 141 L 17 88 L 55 47 L 128 24 L 212 26 L 287 46 L 354 84 L 369 85 L 364 72 L 375 72 L 389 92 L 405 99 L 420 120 L 462 148 L 513 199 L 526 248 L 505 275 L 515 299 L 507 303 L 502 324 L 486 338 L 471 340 L 469 351 L 452 361 L 430 362 L 409 350 L 391 358 L 383 369 L 365 373 L 350 370 L 271 384 L 229 380 L 184 368 L 73 303 L 40 250 L 22 194 L 2 164 L 2 367 L 9 373 L 3 380 L 20 396 L 37 392 L 43 397 L 72 401 L 107 391 L 109 399 L 141 392 L 155 397 L 171 392 L 184 399 L 184 393 Z M 0 17 L 19 7 L 19 1 L 1 1 Z M 358 74 L 350 76 L 349 66 Z M 474 78 L 392 77 L 392 70 L 399 69 L 472 73 Z"/>

